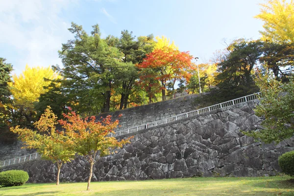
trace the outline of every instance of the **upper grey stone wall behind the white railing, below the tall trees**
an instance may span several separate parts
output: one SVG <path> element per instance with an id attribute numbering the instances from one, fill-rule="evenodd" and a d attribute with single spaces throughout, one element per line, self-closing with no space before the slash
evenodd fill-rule
<path id="1" fill-rule="evenodd" d="M 201 95 L 206 94 L 209 93 L 202 93 Z M 100 117 L 106 117 L 107 115 L 112 115 L 112 120 L 120 120 L 121 127 L 117 130 L 122 130 L 125 128 L 138 126 L 140 124 L 169 118 L 183 112 L 195 110 L 197 106 L 195 103 L 195 98 L 198 96 L 199 95 L 190 95 L 181 98 L 151 103 L 148 105 L 127 108 L 115 112 L 108 112 L 98 115 L 97 119 L 100 119 Z M 123 114 L 123 116 L 118 118 L 120 114 Z M 24 156 L 35 152 L 35 150 L 33 149 L 27 150 L 21 149 L 21 147 L 22 142 L 20 141 L 16 141 L 13 144 L 5 144 L 0 141 L 0 161 Z"/>

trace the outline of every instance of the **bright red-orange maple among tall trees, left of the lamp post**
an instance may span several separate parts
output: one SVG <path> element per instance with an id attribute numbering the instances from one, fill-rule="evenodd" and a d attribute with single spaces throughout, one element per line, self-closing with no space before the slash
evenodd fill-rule
<path id="1" fill-rule="evenodd" d="M 138 84 L 147 91 L 149 98 L 160 90 L 164 96 L 168 82 L 174 85 L 180 79 L 189 81 L 191 71 L 195 69 L 192 59 L 189 52 L 169 46 L 154 49 L 142 63 L 136 65 L 141 70 Z"/>

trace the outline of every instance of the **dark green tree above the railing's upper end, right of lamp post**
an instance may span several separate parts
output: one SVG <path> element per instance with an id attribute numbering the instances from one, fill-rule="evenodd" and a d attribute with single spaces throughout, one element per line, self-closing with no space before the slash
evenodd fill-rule
<path id="1" fill-rule="evenodd" d="M 262 54 L 261 42 L 235 40 L 227 48 L 228 52 L 218 63 L 216 76 L 221 94 L 226 99 L 237 98 L 258 91 L 254 84 L 253 68 Z"/>

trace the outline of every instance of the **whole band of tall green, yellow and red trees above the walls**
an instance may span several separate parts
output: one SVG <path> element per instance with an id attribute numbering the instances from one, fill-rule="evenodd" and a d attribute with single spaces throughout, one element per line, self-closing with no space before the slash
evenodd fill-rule
<path id="1" fill-rule="evenodd" d="M 215 104 L 259 91 L 255 68 L 287 83 L 294 70 L 293 10 L 293 0 L 267 0 L 256 16 L 264 22 L 260 39 L 235 39 L 197 66 L 165 36 L 135 36 L 129 30 L 101 36 L 99 25 L 86 32 L 72 23 L 68 30 L 74 38 L 58 51 L 62 66 L 27 66 L 11 79 L 11 64 L 0 58 L 0 126 L 33 128 L 47 106 L 59 118 L 69 107 L 86 117 L 197 93 L 199 87 L 212 92 L 213 102 L 205 104 Z"/>

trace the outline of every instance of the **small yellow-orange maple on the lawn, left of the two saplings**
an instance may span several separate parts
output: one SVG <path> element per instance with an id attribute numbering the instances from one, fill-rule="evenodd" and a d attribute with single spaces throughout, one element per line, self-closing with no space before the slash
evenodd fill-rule
<path id="1" fill-rule="evenodd" d="M 56 185 L 59 185 L 59 174 L 62 163 L 70 161 L 74 157 L 74 151 L 68 145 L 69 138 L 63 131 L 55 127 L 57 116 L 47 107 L 40 120 L 34 123 L 37 130 L 28 128 L 11 127 L 10 130 L 19 134 L 19 139 L 24 142 L 26 148 L 37 149 L 42 154 L 42 159 L 57 163 Z"/>

